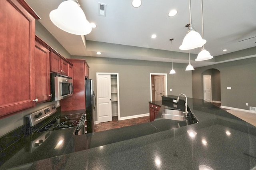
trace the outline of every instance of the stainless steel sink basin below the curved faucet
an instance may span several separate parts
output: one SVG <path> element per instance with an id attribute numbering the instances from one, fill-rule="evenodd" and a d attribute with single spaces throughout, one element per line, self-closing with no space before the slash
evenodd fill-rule
<path id="1" fill-rule="evenodd" d="M 185 121 L 185 116 L 182 111 L 179 110 L 172 110 L 172 109 L 164 109 L 162 114 L 162 118 L 170 119 L 174 121 Z"/>

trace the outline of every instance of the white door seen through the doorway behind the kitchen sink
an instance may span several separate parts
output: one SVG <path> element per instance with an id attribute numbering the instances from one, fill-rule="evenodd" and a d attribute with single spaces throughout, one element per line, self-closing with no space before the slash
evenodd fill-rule
<path id="1" fill-rule="evenodd" d="M 165 93 L 164 93 L 165 82 L 164 81 L 165 81 L 164 75 L 155 76 L 155 97 L 156 97 L 156 101 L 162 100 L 162 95 L 165 95 Z"/>

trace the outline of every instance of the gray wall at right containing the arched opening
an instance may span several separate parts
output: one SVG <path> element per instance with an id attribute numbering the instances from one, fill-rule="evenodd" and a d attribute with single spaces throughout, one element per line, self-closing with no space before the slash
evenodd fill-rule
<path id="1" fill-rule="evenodd" d="M 246 110 L 256 107 L 256 57 L 196 68 L 192 71 L 194 98 L 203 99 L 202 74 L 208 69 L 220 71 L 222 106 Z"/>

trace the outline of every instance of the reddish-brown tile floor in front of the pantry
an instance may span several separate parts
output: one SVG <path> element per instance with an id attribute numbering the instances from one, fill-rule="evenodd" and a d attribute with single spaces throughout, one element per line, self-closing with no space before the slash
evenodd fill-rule
<path id="1" fill-rule="evenodd" d="M 114 116 L 112 117 L 112 121 L 110 122 L 103 122 L 103 123 L 94 125 L 94 132 L 100 132 L 104 130 L 110 130 L 113 128 L 126 127 L 126 126 L 136 125 L 140 123 L 147 123 L 147 122 L 149 122 L 149 116 L 138 117 L 134 119 L 126 119 L 122 121 L 118 121 L 118 117 Z"/>

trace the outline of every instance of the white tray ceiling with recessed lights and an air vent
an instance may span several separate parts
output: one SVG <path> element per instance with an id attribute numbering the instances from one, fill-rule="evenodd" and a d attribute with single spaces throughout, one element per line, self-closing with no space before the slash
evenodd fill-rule
<path id="1" fill-rule="evenodd" d="M 132 7 L 132 0 L 78 0 L 87 20 L 97 25 L 85 36 L 86 43 L 84 37 L 66 33 L 50 21 L 50 11 L 63 1 L 26 0 L 40 16 L 40 23 L 70 55 L 170 62 L 170 38 L 174 38 L 173 51 L 181 53 L 174 52 L 173 61 L 188 63 L 188 51 L 179 49 L 188 30 L 188 0 L 142 0 L 139 8 Z M 105 17 L 98 15 L 99 2 L 106 4 Z M 172 9 L 178 14 L 168 17 Z M 256 0 L 204 0 L 203 9 L 205 47 L 212 56 L 256 46 Z M 191 0 L 191 11 L 192 25 L 202 35 L 201 0 Z M 152 34 L 157 38 L 150 38 Z M 97 51 L 102 54 L 97 55 Z M 199 52 L 200 48 L 190 50 L 196 55 Z M 193 54 L 194 67 L 217 63 L 214 59 L 194 61 Z"/>

